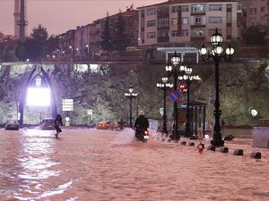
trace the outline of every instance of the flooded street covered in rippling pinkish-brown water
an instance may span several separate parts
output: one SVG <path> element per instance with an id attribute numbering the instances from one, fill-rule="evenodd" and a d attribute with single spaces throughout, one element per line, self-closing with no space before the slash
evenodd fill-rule
<path id="1" fill-rule="evenodd" d="M 183 146 L 153 132 L 147 143 L 130 130 L 54 133 L 0 130 L 1 201 L 269 200 L 269 149 L 252 147 L 252 138 L 225 141 L 228 154 L 199 154 L 187 138 Z M 243 156 L 232 155 L 238 148 Z"/>

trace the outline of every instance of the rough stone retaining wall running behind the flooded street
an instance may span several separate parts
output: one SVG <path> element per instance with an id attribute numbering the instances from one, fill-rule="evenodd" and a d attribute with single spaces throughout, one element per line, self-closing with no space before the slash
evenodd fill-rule
<path id="1" fill-rule="evenodd" d="M 130 87 L 138 93 L 137 99 L 133 100 L 134 118 L 138 109 L 143 109 L 149 118 L 161 119 L 163 92 L 156 88 L 156 83 L 165 73 L 164 65 L 101 63 L 97 69 L 92 69 L 90 65 L 74 63 L 3 63 L 0 71 L 0 124 L 8 117 L 16 117 L 22 88 L 30 71 L 37 65 L 42 66 L 49 76 L 57 113 L 62 113 L 65 118 L 67 113 L 62 112 L 62 99 L 74 99 L 74 112 L 68 113 L 73 124 L 89 123 L 88 109 L 93 110 L 91 123 L 119 121 L 121 118 L 128 121 L 129 100 L 124 95 Z M 258 118 L 269 118 L 266 66 L 265 62 L 220 64 L 221 119 L 226 124 L 257 125 Z M 206 121 L 213 125 L 213 63 L 195 64 L 193 69 L 202 80 L 191 85 L 190 100 L 207 104 Z M 249 115 L 249 107 L 258 111 L 255 119 Z M 31 124 L 51 115 L 48 108 L 25 106 L 24 109 L 24 121 Z M 167 110 L 169 119 L 172 119 L 173 103 L 169 98 Z"/>

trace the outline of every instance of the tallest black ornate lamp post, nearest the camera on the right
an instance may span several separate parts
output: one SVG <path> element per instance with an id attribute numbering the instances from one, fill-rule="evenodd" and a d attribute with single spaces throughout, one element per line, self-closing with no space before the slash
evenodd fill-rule
<path id="1" fill-rule="evenodd" d="M 212 42 L 212 48 L 207 49 L 204 44 L 200 48 L 200 54 L 204 61 L 207 61 L 209 58 L 213 58 L 213 62 L 215 65 L 215 124 L 214 124 L 214 132 L 213 132 L 213 140 L 211 144 L 216 147 L 222 147 L 224 145 L 224 141 L 221 138 L 221 110 L 220 110 L 220 96 L 219 96 L 219 65 L 221 62 L 221 58 L 225 60 L 230 60 L 231 55 L 234 53 L 234 49 L 230 46 L 226 48 L 225 53 L 223 52 L 223 47 L 221 46 L 222 43 L 222 35 L 218 32 L 216 28 L 215 33 L 213 33 L 212 37 L 210 38 Z"/>

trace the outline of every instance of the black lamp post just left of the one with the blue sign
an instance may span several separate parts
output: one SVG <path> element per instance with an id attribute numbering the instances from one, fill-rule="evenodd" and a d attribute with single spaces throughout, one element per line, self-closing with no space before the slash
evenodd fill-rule
<path id="1" fill-rule="evenodd" d="M 163 126 L 162 126 L 162 132 L 165 134 L 168 134 L 167 131 L 167 115 L 166 115 L 166 96 L 167 96 L 167 90 L 169 88 L 172 88 L 173 84 L 168 82 L 168 77 L 163 76 L 161 78 L 161 82 L 157 83 L 157 88 L 160 90 L 163 90 L 163 115 L 162 115 L 162 120 L 163 120 Z"/>

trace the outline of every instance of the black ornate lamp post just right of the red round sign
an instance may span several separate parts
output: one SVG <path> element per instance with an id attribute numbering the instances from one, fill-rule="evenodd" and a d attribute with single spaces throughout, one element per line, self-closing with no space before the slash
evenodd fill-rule
<path id="1" fill-rule="evenodd" d="M 197 74 L 192 74 L 192 67 L 187 66 L 185 69 L 185 73 L 183 75 L 178 76 L 178 80 L 180 82 L 184 82 L 187 84 L 187 121 L 186 121 L 186 128 L 185 128 L 185 137 L 191 137 L 190 134 L 190 120 L 189 120 L 189 91 L 190 91 L 190 84 L 200 80 Z"/>

